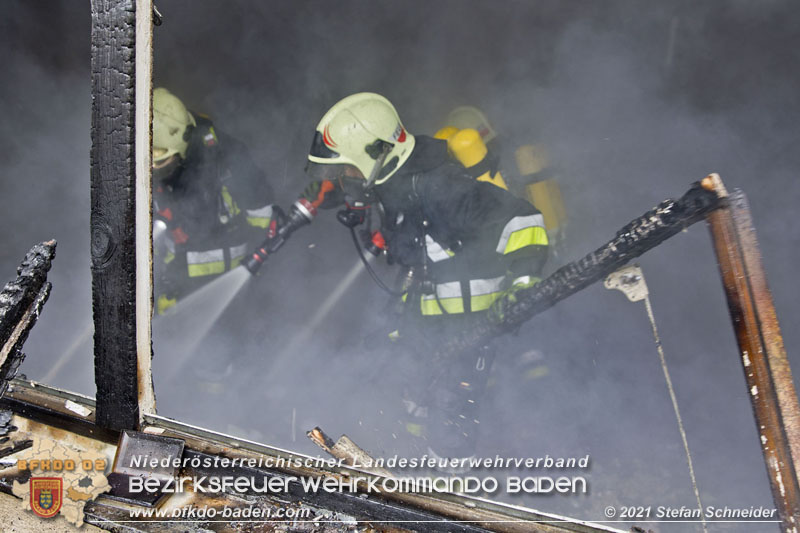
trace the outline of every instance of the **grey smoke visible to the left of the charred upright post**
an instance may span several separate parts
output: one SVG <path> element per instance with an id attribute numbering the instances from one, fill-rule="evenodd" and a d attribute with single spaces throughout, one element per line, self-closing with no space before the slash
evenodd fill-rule
<path id="1" fill-rule="evenodd" d="M 91 325 L 89 272 L 88 13 L 66 3 L 2 6 L 0 210 L 2 278 L 10 280 L 35 243 L 58 240 L 54 289 L 25 345 L 22 368 L 42 377 Z M 3 283 L 5 283 L 3 281 Z M 94 393 L 90 352 L 76 355 L 55 384 Z"/>

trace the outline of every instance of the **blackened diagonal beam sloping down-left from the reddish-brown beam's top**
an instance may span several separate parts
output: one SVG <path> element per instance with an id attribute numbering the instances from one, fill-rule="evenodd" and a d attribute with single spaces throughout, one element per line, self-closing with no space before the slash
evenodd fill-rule
<path id="1" fill-rule="evenodd" d="M 664 200 L 652 210 L 632 220 L 606 244 L 567 263 L 530 289 L 517 292 L 516 302 L 504 309 L 503 320 L 487 319 L 449 342 L 436 356 L 441 362 L 501 333 L 513 331 L 522 323 L 602 280 L 632 259 L 651 250 L 721 205 L 711 177 L 695 182 L 680 199 Z"/>

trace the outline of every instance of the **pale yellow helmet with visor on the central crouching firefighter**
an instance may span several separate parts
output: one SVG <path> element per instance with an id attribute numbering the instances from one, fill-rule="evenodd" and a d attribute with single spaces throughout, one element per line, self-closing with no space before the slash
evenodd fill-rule
<path id="1" fill-rule="evenodd" d="M 380 184 L 406 162 L 414 142 L 389 100 L 375 93 L 353 94 L 319 121 L 307 171 L 327 179 L 355 174 L 368 185 Z"/>

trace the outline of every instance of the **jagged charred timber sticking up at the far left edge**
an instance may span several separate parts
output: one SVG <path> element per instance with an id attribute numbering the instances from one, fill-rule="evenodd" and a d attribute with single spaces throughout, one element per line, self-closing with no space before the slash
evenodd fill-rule
<path id="1" fill-rule="evenodd" d="M 47 281 L 56 241 L 37 244 L 17 269 L 17 278 L 0 292 L 0 397 L 25 358 L 22 345 L 50 296 Z"/>

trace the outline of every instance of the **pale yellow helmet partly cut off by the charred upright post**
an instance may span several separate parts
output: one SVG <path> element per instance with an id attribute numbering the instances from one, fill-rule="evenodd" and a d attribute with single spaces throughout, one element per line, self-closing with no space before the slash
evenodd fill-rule
<path id="1" fill-rule="evenodd" d="M 177 96 L 163 87 L 153 91 L 153 165 L 173 155 L 186 158 L 191 128 L 197 123 Z"/>

